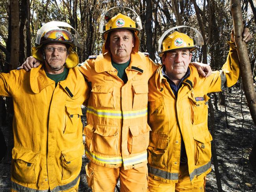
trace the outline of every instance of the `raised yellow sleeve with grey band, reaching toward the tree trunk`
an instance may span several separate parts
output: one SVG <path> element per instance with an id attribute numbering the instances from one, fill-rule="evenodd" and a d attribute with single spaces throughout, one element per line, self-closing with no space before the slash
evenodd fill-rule
<path id="1" fill-rule="evenodd" d="M 210 77 L 205 78 L 208 83 L 208 92 L 217 92 L 227 89 L 232 85 L 236 84 L 239 75 L 239 59 L 237 56 L 237 50 L 234 42 L 228 42 L 230 50 L 226 63 L 222 66 L 222 70 L 213 71 Z M 206 85 L 204 83 L 204 85 Z"/>

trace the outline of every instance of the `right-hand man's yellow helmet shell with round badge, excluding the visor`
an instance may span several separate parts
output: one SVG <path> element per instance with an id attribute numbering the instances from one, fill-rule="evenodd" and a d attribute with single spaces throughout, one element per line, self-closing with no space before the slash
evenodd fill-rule
<path id="1" fill-rule="evenodd" d="M 193 39 L 178 31 L 174 31 L 171 35 L 166 37 L 165 40 L 163 40 L 162 46 L 162 52 L 159 53 L 160 57 L 162 57 L 165 52 L 171 50 L 188 48 L 190 51 L 193 51 L 196 49 Z"/>

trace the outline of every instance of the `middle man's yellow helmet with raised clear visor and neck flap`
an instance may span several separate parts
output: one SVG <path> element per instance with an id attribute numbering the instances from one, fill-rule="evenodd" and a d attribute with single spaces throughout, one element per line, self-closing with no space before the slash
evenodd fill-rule
<path id="1" fill-rule="evenodd" d="M 120 7 L 112 7 L 110 9 L 113 8 L 120 8 Z M 125 7 L 127 9 L 130 9 L 128 7 Z M 110 10 L 108 9 L 108 11 Z M 132 10 L 132 9 L 130 9 Z M 102 18 L 100 20 L 100 33 L 103 33 L 103 37 L 104 37 L 104 45 L 102 47 L 102 53 L 106 53 L 109 51 L 109 45 L 107 44 L 106 40 L 108 38 L 108 33 L 109 31 L 113 31 L 113 30 L 119 30 L 119 29 L 126 29 L 126 30 L 133 30 L 134 31 L 134 47 L 132 48 L 132 50 L 134 52 L 138 52 L 139 51 L 139 30 L 142 29 L 142 24 L 141 24 L 141 19 L 140 17 L 137 15 L 137 13 L 132 10 L 136 15 L 136 22 L 134 20 L 132 20 L 130 17 L 126 16 L 126 15 L 122 15 L 122 13 L 118 13 L 117 15 L 115 15 L 112 18 L 107 19 L 107 24 L 104 26 L 104 20 L 106 19 L 106 15 L 108 13 L 108 11 L 106 11 L 103 15 Z"/>

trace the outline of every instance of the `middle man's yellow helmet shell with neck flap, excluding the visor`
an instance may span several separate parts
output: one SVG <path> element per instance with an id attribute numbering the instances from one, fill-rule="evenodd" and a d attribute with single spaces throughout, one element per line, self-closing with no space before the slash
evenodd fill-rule
<path id="1" fill-rule="evenodd" d="M 108 32 L 113 30 L 133 30 L 134 31 L 134 47 L 132 50 L 134 52 L 139 51 L 139 30 L 137 28 L 136 22 L 134 22 L 130 17 L 118 13 L 112 17 L 105 25 L 105 31 L 103 32 L 103 37 L 105 39 L 104 45 L 102 47 L 102 53 L 109 51 L 109 45 L 106 43 L 108 37 Z"/>

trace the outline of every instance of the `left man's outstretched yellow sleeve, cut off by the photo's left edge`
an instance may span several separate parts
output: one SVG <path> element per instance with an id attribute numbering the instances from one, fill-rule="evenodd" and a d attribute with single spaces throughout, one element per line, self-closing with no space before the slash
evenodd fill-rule
<path id="1" fill-rule="evenodd" d="M 0 96 L 12 97 L 19 88 L 20 70 L 11 70 L 9 73 L 0 73 Z"/>

